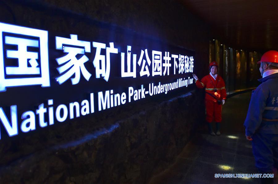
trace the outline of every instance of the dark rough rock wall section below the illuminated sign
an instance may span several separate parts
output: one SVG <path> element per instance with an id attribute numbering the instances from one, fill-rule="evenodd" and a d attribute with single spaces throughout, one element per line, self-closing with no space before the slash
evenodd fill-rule
<path id="1" fill-rule="evenodd" d="M 148 108 L 142 104 L 128 112 L 121 109 L 130 116 L 119 121 L 114 122 L 116 115 L 111 113 L 91 119 L 114 122 L 105 128 L 94 130 L 93 125 L 78 122 L 35 133 L 6 145 L 9 150 L 2 148 L 0 181 L 146 183 L 174 161 L 203 121 L 201 101 L 198 93 L 190 92 L 154 101 Z"/>

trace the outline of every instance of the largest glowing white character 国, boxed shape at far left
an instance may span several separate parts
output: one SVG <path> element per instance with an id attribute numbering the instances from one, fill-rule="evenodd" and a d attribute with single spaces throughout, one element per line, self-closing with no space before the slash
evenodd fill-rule
<path id="1" fill-rule="evenodd" d="M 7 33 L 9 35 L 5 35 Z M 15 86 L 49 87 L 48 32 L 0 22 L 0 35 L 0 92 Z M 4 44 L 15 45 L 17 50 L 8 49 Z M 35 48 L 36 51 L 30 51 L 29 47 Z M 17 59 L 18 64 L 11 66 L 6 63 L 6 59 Z"/>

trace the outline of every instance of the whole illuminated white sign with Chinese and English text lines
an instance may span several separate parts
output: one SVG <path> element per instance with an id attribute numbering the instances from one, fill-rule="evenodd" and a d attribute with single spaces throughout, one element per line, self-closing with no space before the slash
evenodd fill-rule
<path id="1" fill-rule="evenodd" d="M 193 84 L 185 49 L 49 38 L 1 22 L 0 33 L 0 139 L 3 128 L 11 137 Z"/>

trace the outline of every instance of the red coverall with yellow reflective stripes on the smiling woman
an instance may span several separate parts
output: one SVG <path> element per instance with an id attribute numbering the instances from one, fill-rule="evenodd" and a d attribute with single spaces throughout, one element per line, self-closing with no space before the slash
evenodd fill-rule
<path id="1" fill-rule="evenodd" d="M 221 122 L 222 120 L 222 104 L 218 104 L 217 100 L 215 98 L 213 98 L 212 96 L 210 96 L 208 93 L 214 95 L 214 88 L 217 89 L 217 93 L 220 95 L 220 97 L 216 96 L 217 99 L 219 100 L 226 100 L 226 89 L 225 89 L 225 83 L 224 80 L 222 79 L 221 76 L 217 75 L 216 80 L 213 79 L 213 77 L 211 75 L 207 75 L 204 76 L 203 79 L 200 80 L 196 80 L 196 86 L 198 88 L 206 88 L 205 92 L 205 103 L 206 103 L 206 112 L 207 112 L 207 116 L 206 116 L 206 121 L 208 123 L 211 123 L 213 121 L 215 122 Z"/>

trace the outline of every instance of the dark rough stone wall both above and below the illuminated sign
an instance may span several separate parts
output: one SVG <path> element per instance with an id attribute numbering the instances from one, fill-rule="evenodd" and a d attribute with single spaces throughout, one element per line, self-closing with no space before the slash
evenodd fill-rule
<path id="1" fill-rule="evenodd" d="M 4 0 L 0 8 L 1 22 L 85 37 L 113 25 L 188 48 L 196 74 L 207 74 L 208 26 L 177 1 Z M 11 137 L 0 144 L 0 183 L 147 183 L 203 121 L 203 93 L 179 89 Z"/>

